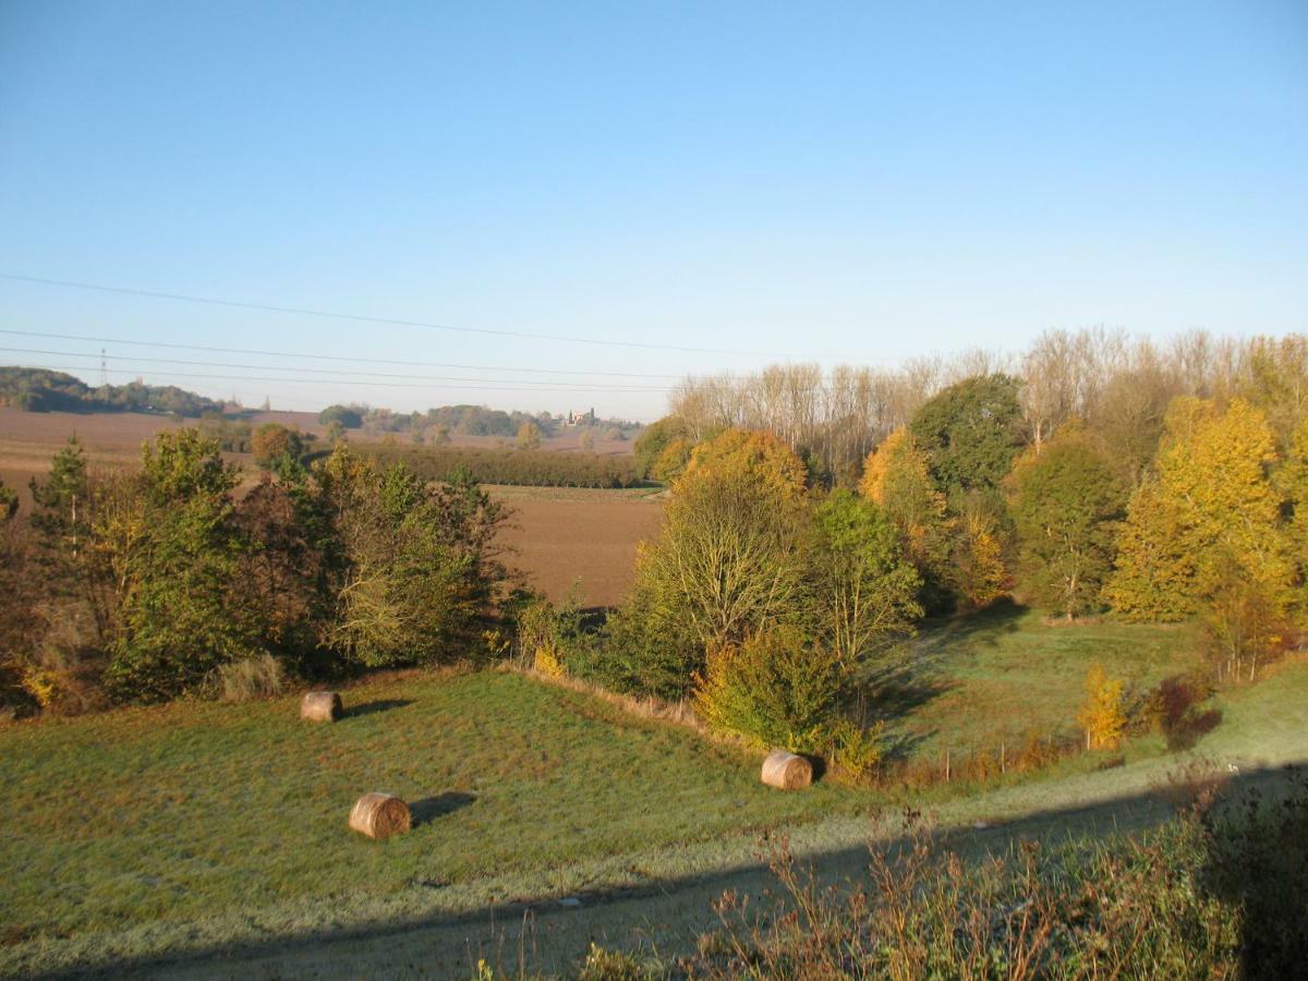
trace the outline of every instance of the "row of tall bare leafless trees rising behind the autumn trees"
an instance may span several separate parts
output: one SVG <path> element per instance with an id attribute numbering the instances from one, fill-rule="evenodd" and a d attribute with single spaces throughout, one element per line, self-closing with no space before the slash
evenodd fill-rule
<path id="1" fill-rule="evenodd" d="M 1118 475 L 1134 487 L 1148 470 L 1163 416 L 1179 395 L 1244 395 L 1271 415 L 1278 438 L 1287 438 L 1288 420 L 1298 419 L 1305 398 L 1308 344 L 1301 336 L 1236 340 L 1202 331 L 1167 344 L 1121 331 L 1048 331 L 1011 357 L 976 349 L 913 358 L 897 369 L 838 366 L 824 373 L 800 364 L 749 375 L 692 377 L 670 399 L 675 426 L 663 442 L 693 445 L 722 429 L 765 430 L 795 447 L 828 483 L 853 487 L 872 447 L 906 426 L 929 399 L 965 378 L 990 374 L 1022 381 L 1018 425 L 1024 443 L 1040 445 L 1078 419 L 1095 430 Z M 676 451 L 671 456 L 675 460 Z"/>

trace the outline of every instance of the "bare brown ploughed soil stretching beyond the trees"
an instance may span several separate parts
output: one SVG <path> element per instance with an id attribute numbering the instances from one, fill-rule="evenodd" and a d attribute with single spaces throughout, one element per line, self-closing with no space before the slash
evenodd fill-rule
<path id="1" fill-rule="evenodd" d="M 251 420 L 298 425 L 318 432 L 307 412 L 259 412 Z M 132 466 L 141 443 L 161 429 L 179 425 L 161 416 L 133 412 L 69 413 L 22 412 L 0 408 L 0 480 L 20 492 L 21 513 L 31 509 L 27 481 L 50 468 L 50 458 L 69 436 L 77 436 L 93 464 Z M 351 434 L 357 442 L 362 434 Z M 362 438 L 361 438 L 362 437 Z M 576 450 L 577 430 L 545 441 L 545 449 Z M 493 446 L 493 438 L 459 437 L 459 445 Z M 630 453 L 630 442 L 596 439 L 596 451 Z M 246 454 L 229 454 L 254 479 Z M 552 600 L 562 600 L 577 587 L 585 606 L 612 606 L 632 583 L 636 544 L 653 535 L 663 508 L 650 490 L 590 490 L 570 488 L 490 487 L 514 510 L 513 527 L 504 543 L 513 549 L 510 565 L 521 569 L 531 586 Z"/>

